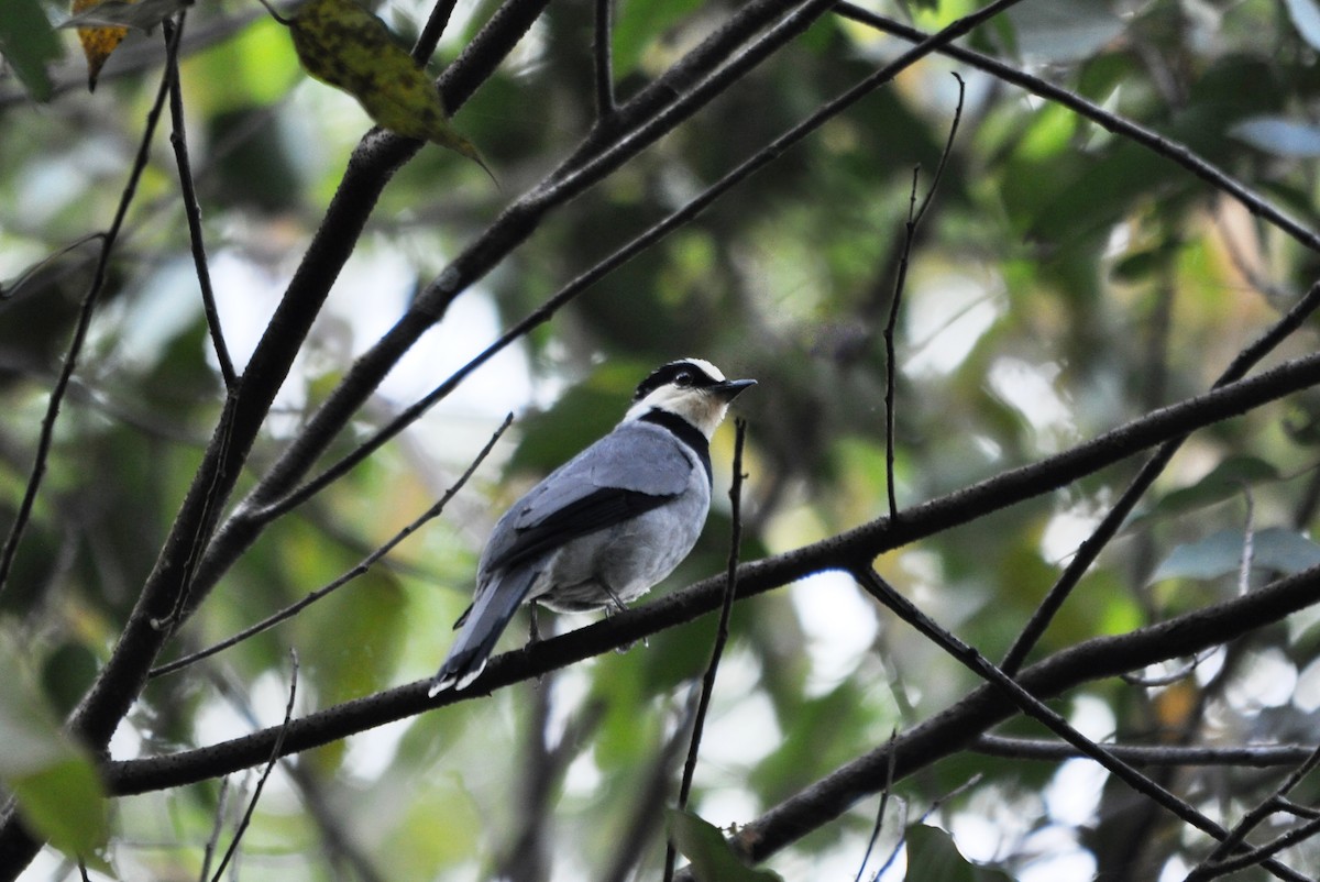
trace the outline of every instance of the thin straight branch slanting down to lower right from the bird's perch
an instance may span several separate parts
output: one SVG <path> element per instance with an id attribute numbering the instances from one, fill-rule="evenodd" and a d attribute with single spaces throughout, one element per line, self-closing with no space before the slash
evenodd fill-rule
<path id="1" fill-rule="evenodd" d="M 919 610 L 912 601 L 899 594 L 888 582 L 886 582 L 884 578 L 875 572 L 875 568 L 859 566 L 853 574 L 854 578 L 857 578 L 857 581 L 873 597 L 875 597 L 875 599 L 894 610 L 899 618 L 915 627 L 925 638 L 935 642 L 941 650 L 952 655 L 957 662 L 978 675 L 981 679 L 1002 689 L 1008 698 L 1022 709 L 1023 713 L 1043 722 L 1051 731 L 1098 762 L 1115 778 L 1121 779 L 1138 794 L 1146 796 L 1176 817 L 1180 817 L 1199 831 L 1209 833 L 1217 840 L 1222 840 L 1229 834 L 1226 829 L 1201 812 L 1196 811 L 1191 803 L 1184 799 L 1179 799 L 1168 788 L 1162 787 L 1148 775 L 1142 774 L 1135 766 L 1123 762 L 1105 747 L 1077 731 L 1077 729 L 1074 729 L 1059 713 L 1018 685 L 1012 677 L 991 664 L 990 660 L 981 655 L 977 650 L 936 625 L 935 621 Z M 1262 862 L 1262 866 L 1279 878 L 1291 879 L 1294 882 L 1303 882 L 1305 879 L 1305 877 L 1298 874 L 1287 866 L 1283 866 L 1282 864 L 1278 864 L 1276 861 Z"/>

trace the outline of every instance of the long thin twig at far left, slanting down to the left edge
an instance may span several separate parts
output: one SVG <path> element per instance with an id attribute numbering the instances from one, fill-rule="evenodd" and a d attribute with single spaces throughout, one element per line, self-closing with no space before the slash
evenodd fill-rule
<path id="1" fill-rule="evenodd" d="M 177 32 L 173 42 L 166 48 L 166 54 L 173 57 L 178 55 Z M 128 214 L 128 206 L 132 205 L 133 195 L 137 193 L 137 184 L 141 181 L 143 173 L 147 170 L 147 164 L 150 160 L 152 137 L 156 135 L 156 124 L 160 121 L 161 111 L 165 107 L 165 96 L 169 94 L 169 79 L 168 71 L 161 75 L 160 86 L 156 90 L 156 100 L 152 103 L 152 108 L 147 112 L 147 125 L 143 131 L 143 139 L 137 145 L 137 156 L 133 158 L 133 168 L 129 170 L 128 182 L 124 185 L 124 190 L 119 197 L 119 206 L 115 209 L 115 218 L 111 220 L 110 228 L 102 239 L 100 259 L 96 261 L 95 275 L 92 276 L 91 285 L 87 288 L 86 296 L 83 296 L 82 306 L 78 310 L 78 321 L 74 325 L 74 335 L 69 342 L 69 351 L 65 355 L 63 364 L 61 364 L 59 378 L 55 380 L 54 388 L 50 390 L 50 400 L 46 404 L 46 415 L 41 420 L 41 434 L 37 438 L 37 454 L 33 458 L 32 474 L 28 477 L 28 486 L 24 490 L 22 502 L 18 503 L 18 512 L 15 515 L 13 524 L 9 527 L 9 535 L 5 537 L 4 548 L 0 549 L 0 592 L 4 592 L 5 582 L 9 580 L 9 572 L 13 568 L 13 559 L 18 551 L 18 541 L 22 539 L 24 529 L 28 527 L 28 520 L 32 518 L 32 507 L 37 502 L 37 490 L 41 487 L 41 478 L 46 473 L 46 459 L 50 457 L 50 445 L 55 433 L 55 420 L 59 416 L 59 405 L 65 400 L 65 392 L 69 388 L 69 382 L 73 378 L 74 368 L 78 366 L 78 356 L 82 354 L 83 342 L 87 339 L 87 329 L 91 326 L 92 313 L 96 310 L 96 304 L 100 301 L 100 294 L 106 288 L 110 255 L 114 251 L 116 239 L 119 238 L 119 231 L 124 224 L 124 218 Z"/>

